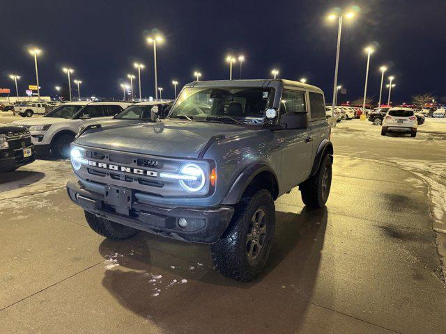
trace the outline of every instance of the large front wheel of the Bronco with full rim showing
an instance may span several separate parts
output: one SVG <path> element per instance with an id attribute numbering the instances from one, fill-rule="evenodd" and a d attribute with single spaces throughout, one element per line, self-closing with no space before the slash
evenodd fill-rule
<path id="1" fill-rule="evenodd" d="M 275 230 L 275 206 L 271 193 L 261 189 L 244 196 L 236 206 L 229 228 L 210 246 L 217 271 L 248 282 L 268 260 Z"/>

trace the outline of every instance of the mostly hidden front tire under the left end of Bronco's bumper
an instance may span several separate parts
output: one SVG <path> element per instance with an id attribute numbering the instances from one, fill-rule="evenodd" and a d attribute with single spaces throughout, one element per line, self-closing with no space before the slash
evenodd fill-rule
<path id="1" fill-rule="evenodd" d="M 128 226 L 114 223 L 113 221 L 109 221 L 105 218 L 100 218 L 86 211 L 85 218 L 86 222 L 89 223 L 89 226 L 93 231 L 102 235 L 102 237 L 106 237 L 109 239 L 128 239 L 139 232 L 139 230 L 135 228 L 129 228 Z"/>

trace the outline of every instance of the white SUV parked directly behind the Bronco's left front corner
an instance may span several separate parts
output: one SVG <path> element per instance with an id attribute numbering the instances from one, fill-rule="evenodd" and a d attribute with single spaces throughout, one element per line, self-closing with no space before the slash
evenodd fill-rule
<path id="1" fill-rule="evenodd" d="M 16 120 L 31 132 L 31 141 L 38 155 L 52 151 L 59 158 L 70 157 L 70 143 L 82 125 L 112 119 L 130 106 L 129 102 L 67 102 L 43 117 Z"/>

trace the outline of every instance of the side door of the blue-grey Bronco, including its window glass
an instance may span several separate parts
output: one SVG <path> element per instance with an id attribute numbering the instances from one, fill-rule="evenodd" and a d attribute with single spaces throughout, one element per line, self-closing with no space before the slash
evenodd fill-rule
<path id="1" fill-rule="evenodd" d="M 305 92 L 284 90 L 279 113 L 307 112 Z M 282 189 L 289 190 L 307 179 L 311 169 L 310 129 L 284 129 L 276 132 L 282 147 Z"/>

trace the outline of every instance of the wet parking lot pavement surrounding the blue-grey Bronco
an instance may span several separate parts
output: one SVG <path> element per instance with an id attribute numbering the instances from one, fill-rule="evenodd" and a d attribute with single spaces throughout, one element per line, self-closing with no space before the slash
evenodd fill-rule
<path id="1" fill-rule="evenodd" d="M 444 148 L 429 134 L 410 141 L 367 131 L 333 130 L 325 208 L 307 209 L 297 189 L 276 201 L 270 260 L 252 283 L 220 276 L 206 245 L 144 232 L 127 241 L 95 234 L 63 188 L 72 178 L 68 161 L 0 175 L 0 328 L 446 333 L 429 189 L 396 164 L 444 163 Z"/>

